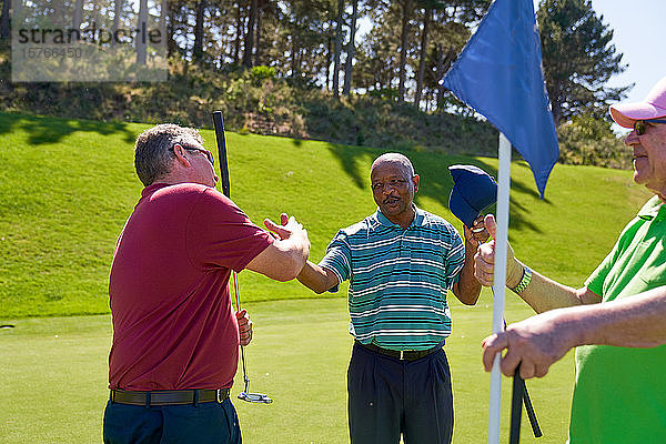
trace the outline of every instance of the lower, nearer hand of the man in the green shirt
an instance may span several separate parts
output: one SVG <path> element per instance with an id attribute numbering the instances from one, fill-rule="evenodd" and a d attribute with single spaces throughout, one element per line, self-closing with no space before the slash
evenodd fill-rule
<path id="1" fill-rule="evenodd" d="M 543 313 L 511 324 L 504 332 L 483 340 L 483 365 L 493 369 L 496 353 L 506 350 L 501 370 L 513 376 L 521 364 L 521 377 L 543 377 L 551 365 L 561 360 L 576 344 L 566 323 L 559 322 L 559 311 Z"/>

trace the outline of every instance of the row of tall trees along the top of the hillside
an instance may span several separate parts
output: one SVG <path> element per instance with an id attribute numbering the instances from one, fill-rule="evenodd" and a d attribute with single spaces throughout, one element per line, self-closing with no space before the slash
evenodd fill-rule
<path id="1" fill-rule="evenodd" d="M 0 37 L 10 36 L 2 0 Z M 333 97 L 372 94 L 426 112 L 452 110 L 438 84 L 491 0 L 43 0 L 38 16 L 74 29 L 95 20 L 111 29 L 150 14 L 167 32 L 171 60 L 224 72 L 266 65 L 293 85 Z M 19 2 L 18 4 L 21 4 Z M 36 4 L 32 2 L 32 4 Z M 16 13 L 16 11 L 14 11 Z M 627 88 L 613 30 L 591 0 L 542 0 L 537 10 L 546 87 L 556 123 L 605 115 Z M 30 19 L 28 19 L 28 24 Z M 138 47 L 145 60 L 150 48 Z"/>

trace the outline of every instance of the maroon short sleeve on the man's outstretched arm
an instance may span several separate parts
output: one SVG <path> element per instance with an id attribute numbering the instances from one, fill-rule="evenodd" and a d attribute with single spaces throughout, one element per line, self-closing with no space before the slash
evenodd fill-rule
<path id="1" fill-rule="evenodd" d="M 194 266 L 223 266 L 240 272 L 273 242 L 224 194 L 201 193 L 188 220 L 186 251 Z"/>

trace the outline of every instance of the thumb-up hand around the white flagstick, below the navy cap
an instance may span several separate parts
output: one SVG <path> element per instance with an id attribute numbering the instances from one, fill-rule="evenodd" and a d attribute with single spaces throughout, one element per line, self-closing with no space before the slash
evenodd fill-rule
<path id="1" fill-rule="evenodd" d="M 474 255 L 474 275 L 482 285 L 492 286 L 495 281 L 495 235 L 497 233 L 497 223 L 493 214 L 485 216 L 484 226 L 493 240 L 478 246 Z M 514 287 L 521 282 L 522 278 L 523 264 L 515 259 L 513 249 L 507 242 L 506 284 L 509 287 Z"/>

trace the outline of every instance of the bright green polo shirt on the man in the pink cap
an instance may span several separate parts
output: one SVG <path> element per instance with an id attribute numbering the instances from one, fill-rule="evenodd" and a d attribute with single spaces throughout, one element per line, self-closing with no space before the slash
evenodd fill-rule
<path id="1" fill-rule="evenodd" d="M 666 205 L 650 199 L 586 281 L 602 303 L 666 285 Z M 576 350 L 571 444 L 666 442 L 666 345 Z"/>

